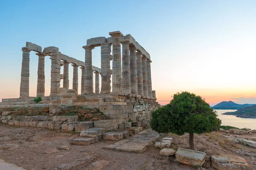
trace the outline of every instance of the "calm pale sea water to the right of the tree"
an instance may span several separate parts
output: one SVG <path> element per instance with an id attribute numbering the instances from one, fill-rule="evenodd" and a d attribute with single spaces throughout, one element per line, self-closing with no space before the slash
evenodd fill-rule
<path id="1" fill-rule="evenodd" d="M 215 110 L 218 113 L 218 118 L 221 119 L 221 125 L 229 125 L 238 128 L 247 127 L 250 129 L 256 129 L 256 119 L 241 118 L 233 115 L 223 115 L 221 113 L 234 112 L 237 110 Z"/>

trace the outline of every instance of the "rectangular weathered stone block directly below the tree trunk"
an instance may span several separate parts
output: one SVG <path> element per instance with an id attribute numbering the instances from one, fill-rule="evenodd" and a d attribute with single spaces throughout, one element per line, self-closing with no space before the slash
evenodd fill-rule
<path id="1" fill-rule="evenodd" d="M 202 164 L 204 164 L 206 153 L 197 150 L 178 148 L 175 157 L 180 163 L 201 167 Z"/>

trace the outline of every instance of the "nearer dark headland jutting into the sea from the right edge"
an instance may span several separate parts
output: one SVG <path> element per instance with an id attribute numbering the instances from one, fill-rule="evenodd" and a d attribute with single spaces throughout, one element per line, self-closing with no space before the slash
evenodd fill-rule
<path id="1" fill-rule="evenodd" d="M 235 115 L 236 117 L 243 117 L 243 118 L 255 118 L 256 119 L 256 105 L 249 106 L 245 108 L 241 108 L 234 112 L 226 112 L 223 113 L 226 115 Z"/>

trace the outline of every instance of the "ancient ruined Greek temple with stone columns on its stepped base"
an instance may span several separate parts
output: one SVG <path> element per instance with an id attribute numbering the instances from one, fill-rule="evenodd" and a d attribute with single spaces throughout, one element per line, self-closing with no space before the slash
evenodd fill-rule
<path id="1" fill-rule="evenodd" d="M 57 47 L 46 47 L 26 42 L 22 48 L 20 98 L 2 99 L 0 107 L 45 107 L 55 114 L 62 106 L 79 105 L 99 108 L 109 119 L 139 121 L 149 120 L 151 111 L 158 108 L 155 91 L 151 85 L 151 59 L 148 52 L 130 35 L 120 31 L 110 32 L 111 37 L 96 37 L 83 46 L 85 60 L 62 54 Z M 122 44 L 122 49 L 121 49 Z M 111 46 L 112 54 L 111 55 Z M 101 68 L 92 65 L 93 48 L 101 48 Z M 29 96 L 29 53 L 38 55 L 37 96 L 43 101 L 33 102 Z M 51 59 L 50 95 L 45 96 L 44 60 Z M 112 69 L 110 62 L 112 61 Z M 73 66 L 73 87 L 69 87 L 69 64 Z M 81 68 L 81 94 L 78 94 L 78 68 Z M 63 69 L 63 74 L 61 73 Z M 96 80 L 93 83 L 93 73 Z M 99 89 L 101 75 L 101 89 Z M 111 83 L 112 75 L 112 83 Z M 63 79 L 63 87 L 61 87 Z M 111 91 L 112 86 L 112 91 Z M 95 87 L 95 92 L 93 87 Z"/>

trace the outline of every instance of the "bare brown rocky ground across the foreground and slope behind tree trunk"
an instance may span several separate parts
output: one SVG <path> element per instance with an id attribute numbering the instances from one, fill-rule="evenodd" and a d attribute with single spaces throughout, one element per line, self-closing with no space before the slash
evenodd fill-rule
<path id="1" fill-rule="evenodd" d="M 70 145 L 77 137 L 75 133 L 0 124 L 0 159 L 26 170 L 197 170 L 178 163 L 175 156 L 160 156 L 160 149 L 154 146 L 144 153 L 127 153 L 103 149 L 116 143 L 113 141 L 89 146 Z M 188 139 L 188 135 L 174 136 L 172 148 L 188 148 Z M 241 156 L 251 169 L 256 169 L 256 148 L 234 144 L 221 133 L 195 135 L 195 149 Z"/>

